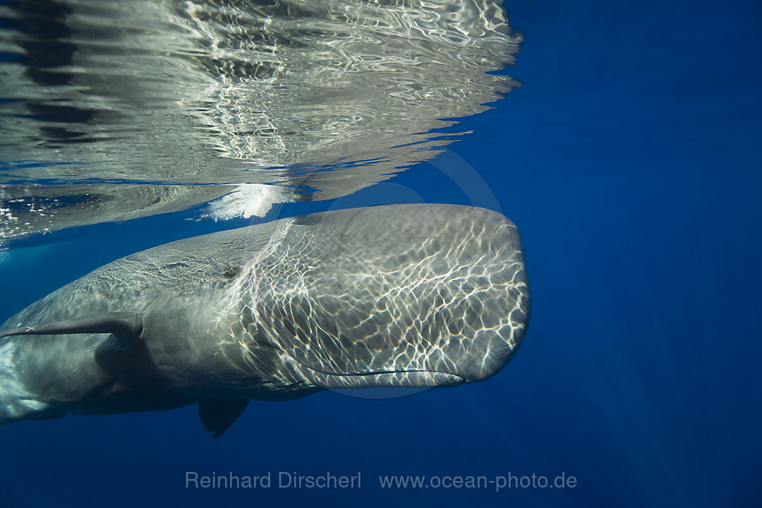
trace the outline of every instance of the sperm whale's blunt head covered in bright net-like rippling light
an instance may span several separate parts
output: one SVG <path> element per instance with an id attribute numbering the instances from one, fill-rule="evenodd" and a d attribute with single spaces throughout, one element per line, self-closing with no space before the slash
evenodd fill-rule
<path id="1" fill-rule="evenodd" d="M 220 319 L 246 368 L 265 347 L 325 388 L 377 379 L 449 385 L 494 374 L 528 321 L 520 238 L 495 212 L 450 219 L 447 208 L 422 206 L 415 218 L 389 206 L 283 221 L 243 270 Z"/>

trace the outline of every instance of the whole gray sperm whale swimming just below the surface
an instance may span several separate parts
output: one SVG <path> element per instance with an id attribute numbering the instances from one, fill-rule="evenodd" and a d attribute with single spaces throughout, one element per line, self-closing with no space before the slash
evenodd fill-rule
<path id="1" fill-rule="evenodd" d="M 0 423 L 198 402 L 219 436 L 250 399 L 488 378 L 529 315 L 520 236 L 496 212 L 280 219 L 123 257 L 14 315 Z"/>

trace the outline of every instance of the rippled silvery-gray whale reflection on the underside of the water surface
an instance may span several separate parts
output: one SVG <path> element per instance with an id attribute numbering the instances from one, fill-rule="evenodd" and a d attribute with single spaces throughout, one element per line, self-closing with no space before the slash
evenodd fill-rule
<path id="1" fill-rule="evenodd" d="M 48 0 L 0 18 L 0 238 L 242 184 L 342 196 L 517 85 L 485 74 L 520 43 L 499 2 Z"/>

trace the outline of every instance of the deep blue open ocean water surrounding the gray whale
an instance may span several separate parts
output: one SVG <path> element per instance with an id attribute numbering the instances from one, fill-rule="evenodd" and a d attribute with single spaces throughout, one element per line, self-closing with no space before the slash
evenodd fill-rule
<path id="1" fill-rule="evenodd" d="M 267 216 L 408 200 L 501 209 L 533 290 L 502 372 L 402 398 L 254 401 L 220 439 L 196 407 L 0 427 L 0 506 L 760 506 L 762 6 L 506 8 L 524 34 L 509 69 L 523 87 L 451 128 L 470 136 L 338 203 Z M 251 222 L 187 216 L 0 254 L 3 319 L 123 255 Z M 187 471 L 270 472 L 273 486 L 187 488 Z M 281 471 L 359 471 L 361 487 L 278 488 Z M 379 485 L 406 474 L 575 483 Z"/>

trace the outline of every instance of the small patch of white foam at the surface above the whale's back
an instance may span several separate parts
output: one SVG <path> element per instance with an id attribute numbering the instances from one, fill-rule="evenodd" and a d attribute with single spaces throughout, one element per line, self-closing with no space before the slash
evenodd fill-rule
<path id="1" fill-rule="evenodd" d="M 275 203 L 286 203 L 290 199 L 283 194 L 280 187 L 264 184 L 242 184 L 238 190 L 227 196 L 214 200 L 209 204 L 210 210 L 206 217 L 216 221 L 229 220 L 251 216 L 264 217 Z"/>

